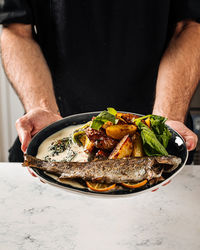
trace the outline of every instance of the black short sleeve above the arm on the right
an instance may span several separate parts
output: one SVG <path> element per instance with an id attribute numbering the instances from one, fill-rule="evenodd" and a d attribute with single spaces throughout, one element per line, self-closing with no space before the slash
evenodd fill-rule
<path id="1" fill-rule="evenodd" d="M 171 0 L 173 22 L 191 19 L 200 22 L 200 0 Z"/>

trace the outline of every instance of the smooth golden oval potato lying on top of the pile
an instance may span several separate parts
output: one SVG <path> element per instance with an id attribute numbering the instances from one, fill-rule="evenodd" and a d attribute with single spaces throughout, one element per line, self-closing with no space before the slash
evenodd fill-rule
<path id="1" fill-rule="evenodd" d="M 137 130 L 137 127 L 132 124 L 117 124 L 111 125 L 106 128 L 107 136 L 121 140 L 125 135 L 133 135 Z"/>

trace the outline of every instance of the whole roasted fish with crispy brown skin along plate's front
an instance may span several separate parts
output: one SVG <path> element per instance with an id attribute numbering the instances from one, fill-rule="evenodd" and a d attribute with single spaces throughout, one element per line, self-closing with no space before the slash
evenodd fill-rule
<path id="1" fill-rule="evenodd" d="M 181 163 L 176 156 L 123 158 L 91 162 L 47 162 L 24 156 L 23 166 L 35 167 L 59 178 L 98 181 L 100 183 L 139 182 L 161 177 L 163 171 L 173 171 Z"/>

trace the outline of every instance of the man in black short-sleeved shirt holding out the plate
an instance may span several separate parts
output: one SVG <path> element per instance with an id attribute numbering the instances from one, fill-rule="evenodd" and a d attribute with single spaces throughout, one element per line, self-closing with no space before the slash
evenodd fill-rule
<path id="1" fill-rule="evenodd" d="M 199 0 L 3 1 L 3 64 L 26 112 L 16 122 L 22 151 L 63 116 L 108 106 L 167 117 L 193 150 L 184 123 L 200 80 L 199 21 Z M 10 161 L 23 160 L 19 148 Z"/>

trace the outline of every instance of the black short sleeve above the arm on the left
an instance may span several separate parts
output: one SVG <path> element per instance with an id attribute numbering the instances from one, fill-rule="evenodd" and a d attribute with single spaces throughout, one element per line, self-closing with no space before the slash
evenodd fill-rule
<path id="1" fill-rule="evenodd" d="M 32 23 L 27 0 L 0 0 L 0 24 L 9 23 Z"/>

